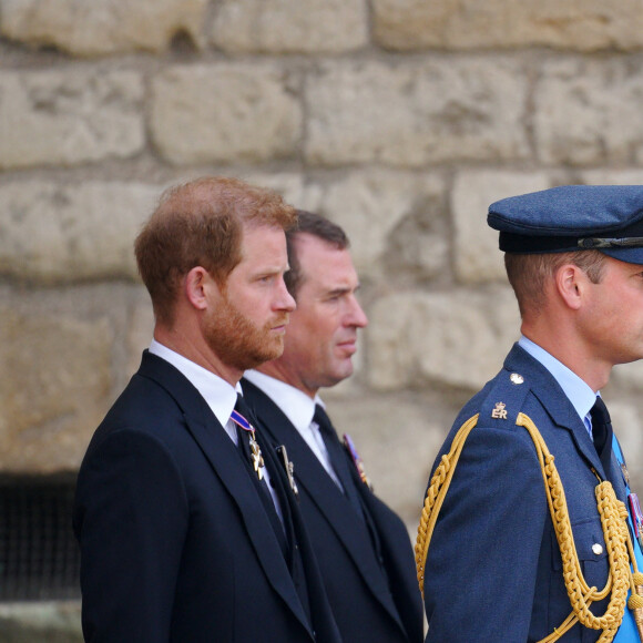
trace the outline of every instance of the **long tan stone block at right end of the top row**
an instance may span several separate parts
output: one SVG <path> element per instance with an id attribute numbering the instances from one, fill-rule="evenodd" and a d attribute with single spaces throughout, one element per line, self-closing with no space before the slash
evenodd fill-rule
<path id="1" fill-rule="evenodd" d="M 643 45 L 636 0 L 374 0 L 376 42 L 388 49 L 552 47 L 578 51 Z"/>

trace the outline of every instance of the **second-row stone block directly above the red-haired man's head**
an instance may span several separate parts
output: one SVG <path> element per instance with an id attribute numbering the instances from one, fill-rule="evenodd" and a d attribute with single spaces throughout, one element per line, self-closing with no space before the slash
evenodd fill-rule
<path id="1" fill-rule="evenodd" d="M 171 163 L 257 163 L 296 153 L 302 108 L 274 65 L 174 67 L 154 79 L 151 127 Z"/>

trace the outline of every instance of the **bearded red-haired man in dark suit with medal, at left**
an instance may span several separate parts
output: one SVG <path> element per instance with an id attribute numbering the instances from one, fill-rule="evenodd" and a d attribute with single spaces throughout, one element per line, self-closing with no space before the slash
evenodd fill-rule
<path id="1" fill-rule="evenodd" d="M 154 339 L 79 472 L 86 641 L 340 641 L 286 470 L 235 390 L 283 350 L 295 218 L 205 177 L 165 193 L 136 239 Z"/>

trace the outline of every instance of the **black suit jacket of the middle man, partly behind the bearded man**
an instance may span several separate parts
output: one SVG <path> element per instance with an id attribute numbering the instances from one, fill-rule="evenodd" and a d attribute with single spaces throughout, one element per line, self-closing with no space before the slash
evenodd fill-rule
<path id="1" fill-rule="evenodd" d="M 350 462 L 376 550 L 365 522 L 284 412 L 252 382 L 242 379 L 242 387 L 262 429 L 286 445 L 294 462 L 299 506 L 344 641 L 422 641 L 421 598 L 402 521 L 359 481 Z"/>

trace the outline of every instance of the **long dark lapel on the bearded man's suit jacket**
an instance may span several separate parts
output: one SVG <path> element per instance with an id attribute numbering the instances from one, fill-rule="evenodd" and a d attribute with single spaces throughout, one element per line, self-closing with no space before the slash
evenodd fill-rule
<path id="1" fill-rule="evenodd" d="M 271 521 L 238 458 L 235 445 L 201 394 L 172 365 L 145 351 L 140 374 L 157 381 L 175 399 L 184 414 L 187 431 L 211 463 L 213 473 L 237 504 L 268 582 L 306 629 L 310 630 L 284 554 L 273 535 Z"/>

